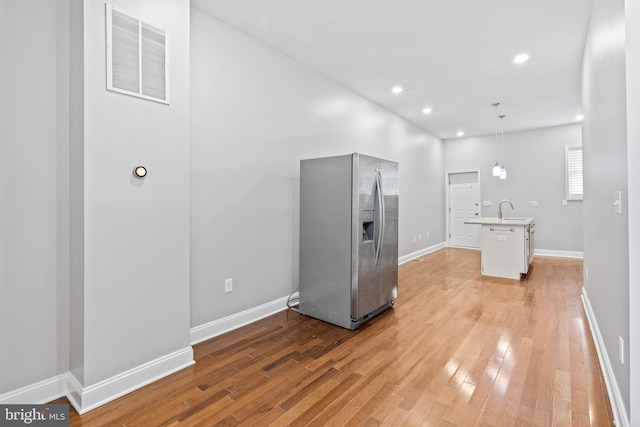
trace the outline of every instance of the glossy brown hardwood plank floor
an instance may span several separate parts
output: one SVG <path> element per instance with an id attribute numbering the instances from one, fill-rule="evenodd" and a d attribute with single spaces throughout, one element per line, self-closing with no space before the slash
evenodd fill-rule
<path id="1" fill-rule="evenodd" d="M 284 311 L 194 346 L 192 367 L 72 409 L 71 426 L 613 425 L 582 261 L 536 256 L 522 281 L 479 272 L 473 250 L 410 261 L 395 307 L 357 331 Z"/>

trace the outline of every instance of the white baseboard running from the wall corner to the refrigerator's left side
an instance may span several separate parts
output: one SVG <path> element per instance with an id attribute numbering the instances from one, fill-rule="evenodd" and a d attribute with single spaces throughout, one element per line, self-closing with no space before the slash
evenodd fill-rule
<path id="1" fill-rule="evenodd" d="M 288 296 L 191 328 L 191 344 L 217 337 L 287 309 Z"/>

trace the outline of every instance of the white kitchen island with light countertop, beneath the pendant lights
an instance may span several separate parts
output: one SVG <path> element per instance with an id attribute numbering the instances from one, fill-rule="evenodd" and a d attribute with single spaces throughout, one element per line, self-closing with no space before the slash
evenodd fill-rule
<path id="1" fill-rule="evenodd" d="M 533 261 L 534 218 L 478 218 L 465 224 L 482 226 L 483 276 L 521 279 Z"/>

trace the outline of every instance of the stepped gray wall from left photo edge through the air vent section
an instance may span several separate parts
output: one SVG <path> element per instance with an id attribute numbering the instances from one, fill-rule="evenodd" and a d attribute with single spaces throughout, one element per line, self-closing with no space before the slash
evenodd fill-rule
<path id="1" fill-rule="evenodd" d="M 190 346 L 190 6 L 112 3 L 171 34 L 169 106 L 105 90 L 104 3 L 0 2 L 0 394 Z"/>

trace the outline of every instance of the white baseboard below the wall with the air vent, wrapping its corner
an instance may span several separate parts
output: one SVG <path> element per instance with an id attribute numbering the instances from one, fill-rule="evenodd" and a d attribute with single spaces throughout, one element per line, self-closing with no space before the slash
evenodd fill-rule
<path id="1" fill-rule="evenodd" d="M 193 349 L 189 346 L 88 387 L 82 387 L 77 378 L 69 373 L 67 398 L 79 414 L 84 414 L 194 363 Z"/>

